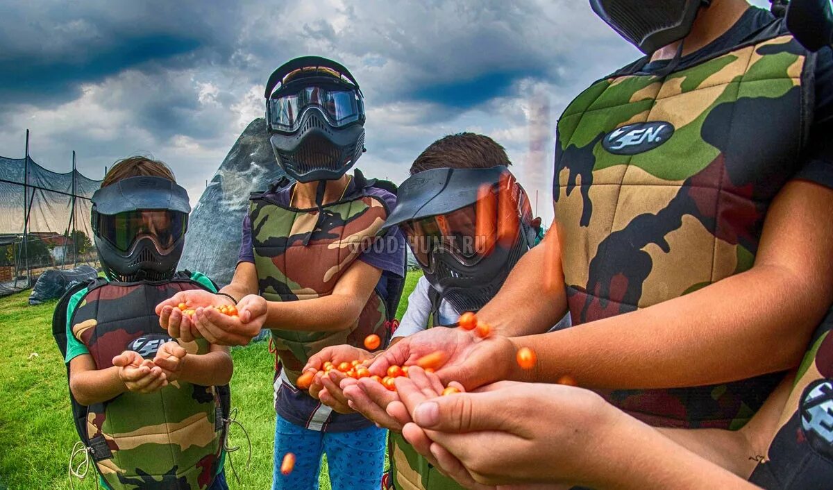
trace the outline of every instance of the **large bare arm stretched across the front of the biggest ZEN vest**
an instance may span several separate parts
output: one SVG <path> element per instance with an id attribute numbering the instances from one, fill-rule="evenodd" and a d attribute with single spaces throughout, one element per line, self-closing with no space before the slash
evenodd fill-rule
<path id="1" fill-rule="evenodd" d="M 824 314 L 799 278 L 755 267 L 632 313 L 522 340 L 535 378 L 564 373 L 587 388 L 725 383 L 796 366 Z M 789 292 L 789 294 L 786 294 Z"/>

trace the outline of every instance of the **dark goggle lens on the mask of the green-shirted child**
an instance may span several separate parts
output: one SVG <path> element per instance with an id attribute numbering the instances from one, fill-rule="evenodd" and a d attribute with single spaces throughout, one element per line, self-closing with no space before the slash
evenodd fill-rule
<path id="1" fill-rule="evenodd" d="M 185 235 L 188 215 L 168 210 L 128 211 L 98 215 L 98 234 L 113 247 L 129 252 L 140 238 L 153 238 L 161 251 L 171 248 Z"/>

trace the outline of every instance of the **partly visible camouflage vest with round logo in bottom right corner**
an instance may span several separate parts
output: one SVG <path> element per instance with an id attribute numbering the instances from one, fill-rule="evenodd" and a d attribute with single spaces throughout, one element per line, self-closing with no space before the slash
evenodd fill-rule
<path id="1" fill-rule="evenodd" d="M 833 314 L 816 331 L 778 430 L 750 481 L 770 490 L 830 488 L 833 482 Z"/>

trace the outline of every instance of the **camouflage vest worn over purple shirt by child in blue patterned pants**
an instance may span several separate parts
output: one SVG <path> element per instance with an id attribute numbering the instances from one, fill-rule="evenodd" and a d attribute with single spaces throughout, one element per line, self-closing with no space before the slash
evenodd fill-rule
<path id="1" fill-rule="evenodd" d="M 363 183 L 357 183 L 362 189 Z M 367 195 L 347 196 L 317 208 L 290 208 L 268 193 L 252 196 L 249 218 L 260 294 L 269 301 L 302 301 L 332 294 L 338 279 L 372 245 L 385 223 L 387 204 Z M 387 308 L 374 291 L 351 328 L 337 332 L 272 330 L 277 358 L 294 384 L 312 354 L 333 345 L 362 346 L 376 333 L 387 338 Z"/>

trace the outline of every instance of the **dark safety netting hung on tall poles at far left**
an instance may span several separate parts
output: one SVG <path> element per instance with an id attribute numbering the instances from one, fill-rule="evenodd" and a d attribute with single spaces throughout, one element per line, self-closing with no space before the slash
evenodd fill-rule
<path id="1" fill-rule="evenodd" d="M 100 186 L 28 156 L 0 157 L 0 296 L 31 287 L 47 269 L 97 267 L 90 198 Z"/>

